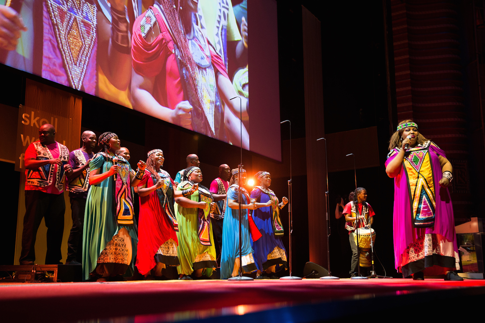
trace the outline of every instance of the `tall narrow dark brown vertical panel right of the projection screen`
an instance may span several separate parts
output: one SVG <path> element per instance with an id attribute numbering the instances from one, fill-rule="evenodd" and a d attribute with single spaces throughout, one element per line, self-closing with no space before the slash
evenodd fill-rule
<path id="1" fill-rule="evenodd" d="M 320 21 L 305 7 L 302 7 L 302 18 L 309 261 L 327 267 L 325 143 L 317 143 L 317 139 L 325 133 L 321 27 Z"/>

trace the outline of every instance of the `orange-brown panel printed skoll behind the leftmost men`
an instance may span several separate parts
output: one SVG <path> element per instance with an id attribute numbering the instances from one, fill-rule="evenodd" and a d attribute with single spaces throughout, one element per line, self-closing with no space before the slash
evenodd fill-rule
<path id="1" fill-rule="evenodd" d="M 45 123 L 51 123 L 56 128 L 56 141 L 67 146 L 69 151 L 78 149 L 81 142 L 81 97 L 72 95 L 49 85 L 26 80 L 25 106 L 19 108 L 16 138 L 16 170 L 20 171 L 20 190 L 18 198 L 17 236 L 14 264 L 19 264 L 18 258 L 22 249 L 22 230 L 25 215 L 25 167 L 23 163 L 27 146 L 39 138 L 39 128 Z M 99 116 L 93 116 L 99 117 Z M 62 243 L 63 262 L 67 257 L 67 238 L 72 226 L 71 204 L 69 196 L 64 193 L 65 214 L 64 234 Z M 35 263 L 44 264 L 47 240 L 47 228 L 44 220 L 37 231 L 35 243 Z"/>

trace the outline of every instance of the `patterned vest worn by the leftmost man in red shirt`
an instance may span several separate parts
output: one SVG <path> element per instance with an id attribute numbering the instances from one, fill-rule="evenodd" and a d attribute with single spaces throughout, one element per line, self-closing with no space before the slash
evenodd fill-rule
<path id="1" fill-rule="evenodd" d="M 53 159 L 49 148 L 46 145 L 42 145 L 40 142 L 34 142 L 32 145 L 35 148 L 37 161 L 45 161 Z M 56 189 L 58 191 L 63 190 L 64 184 L 64 165 L 69 162 L 69 149 L 65 145 L 57 143 L 59 147 L 59 159 L 62 161 L 62 165 L 57 166 L 57 172 L 54 174 L 55 165 L 47 164 L 37 169 L 27 170 L 26 185 L 46 187 L 52 184 L 54 176 L 56 178 Z"/>

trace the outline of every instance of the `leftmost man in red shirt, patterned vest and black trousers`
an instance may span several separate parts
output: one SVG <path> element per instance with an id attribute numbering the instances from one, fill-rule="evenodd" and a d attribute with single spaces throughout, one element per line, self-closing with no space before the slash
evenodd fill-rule
<path id="1" fill-rule="evenodd" d="M 33 265 L 35 238 L 42 218 L 47 226 L 46 264 L 62 264 L 64 232 L 64 177 L 70 174 L 69 150 L 55 141 L 54 126 L 39 129 L 39 141 L 25 151 L 25 216 L 22 231 L 21 265 Z"/>

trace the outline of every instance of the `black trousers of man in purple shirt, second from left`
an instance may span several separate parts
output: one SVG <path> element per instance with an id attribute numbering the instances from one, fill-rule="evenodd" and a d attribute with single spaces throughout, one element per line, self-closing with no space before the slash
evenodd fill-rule
<path id="1" fill-rule="evenodd" d="M 82 197 L 71 197 L 72 227 L 67 239 L 66 262 L 76 260 L 82 263 L 82 228 L 84 227 L 84 210 L 86 199 Z"/>

